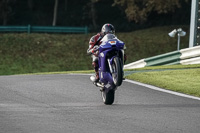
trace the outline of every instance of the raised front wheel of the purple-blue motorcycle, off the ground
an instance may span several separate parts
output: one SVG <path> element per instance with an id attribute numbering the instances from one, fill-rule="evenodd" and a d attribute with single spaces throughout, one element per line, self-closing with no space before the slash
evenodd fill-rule
<path id="1" fill-rule="evenodd" d="M 122 65 L 119 57 L 115 57 L 113 59 L 112 69 L 113 69 L 112 73 L 113 82 L 116 86 L 120 86 L 122 84 L 123 74 L 122 74 Z"/>

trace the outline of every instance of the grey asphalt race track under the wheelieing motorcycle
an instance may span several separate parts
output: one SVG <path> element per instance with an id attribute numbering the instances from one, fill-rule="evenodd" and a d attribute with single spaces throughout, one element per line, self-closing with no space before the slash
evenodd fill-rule
<path id="1" fill-rule="evenodd" d="M 0 76 L 0 133 L 200 132 L 200 100 L 123 82 L 104 105 L 89 77 Z"/>

